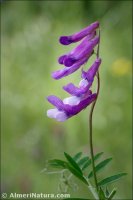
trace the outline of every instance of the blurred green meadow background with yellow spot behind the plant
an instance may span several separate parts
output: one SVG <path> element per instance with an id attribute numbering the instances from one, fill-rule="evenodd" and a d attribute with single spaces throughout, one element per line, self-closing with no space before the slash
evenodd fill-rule
<path id="1" fill-rule="evenodd" d="M 57 59 L 73 47 L 60 35 L 99 20 L 101 91 L 94 113 L 94 151 L 113 162 L 100 177 L 127 172 L 114 183 L 116 199 L 131 199 L 131 1 L 2 1 L 2 192 L 57 193 L 58 175 L 40 173 L 47 159 L 89 151 L 89 108 L 65 123 L 46 116 L 46 96 L 67 96 L 62 86 L 81 71 L 55 81 Z M 86 67 L 89 67 L 89 62 Z M 76 179 L 75 179 L 76 180 Z M 89 197 L 79 184 L 71 197 Z M 91 198 L 91 196 L 90 196 Z"/>

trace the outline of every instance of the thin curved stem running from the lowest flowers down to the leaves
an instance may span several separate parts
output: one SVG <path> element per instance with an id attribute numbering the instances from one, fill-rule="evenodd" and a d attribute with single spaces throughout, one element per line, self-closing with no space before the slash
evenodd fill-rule
<path id="1" fill-rule="evenodd" d="M 95 187 L 97 192 L 99 191 L 98 189 L 98 182 L 97 182 L 97 176 L 95 172 L 95 162 L 94 162 L 94 152 L 93 152 L 93 137 L 92 137 L 92 116 L 93 116 L 93 111 L 95 108 L 95 104 L 99 95 L 99 90 L 100 90 L 100 77 L 99 77 L 99 72 L 97 72 L 97 97 L 94 103 L 92 104 L 90 115 L 89 115 L 89 129 L 90 129 L 90 154 L 91 154 L 91 160 L 92 160 L 92 170 L 93 170 L 93 175 L 94 175 L 94 182 L 95 182 Z"/>

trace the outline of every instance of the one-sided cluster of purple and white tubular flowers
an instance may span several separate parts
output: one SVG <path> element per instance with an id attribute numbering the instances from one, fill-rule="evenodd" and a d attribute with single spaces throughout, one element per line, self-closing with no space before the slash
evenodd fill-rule
<path id="1" fill-rule="evenodd" d="M 61 79 L 72 74 L 88 61 L 90 56 L 94 53 L 95 46 L 99 45 L 100 42 L 100 36 L 97 35 L 96 32 L 97 28 L 99 28 L 99 22 L 94 22 L 80 32 L 70 36 L 60 37 L 59 41 L 63 45 L 69 45 L 80 40 L 82 41 L 69 53 L 59 57 L 58 62 L 64 65 L 64 68 L 52 73 L 54 79 Z M 54 95 L 48 96 L 47 100 L 54 105 L 55 108 L 48 110 L 47 116 L 55 118 L 57 121 L 65 121 L 78 114 L 95 101 L 97 94 L 92 93 L 90 88 L 100 64 L 101 59 L 97 55 L 96 60 L 88 71 L 82 70 L 81 81 L 78 87 L 73 83 L 63 86 L 63 89 L 71 95 L 70 97 L 62 101 Z"/>

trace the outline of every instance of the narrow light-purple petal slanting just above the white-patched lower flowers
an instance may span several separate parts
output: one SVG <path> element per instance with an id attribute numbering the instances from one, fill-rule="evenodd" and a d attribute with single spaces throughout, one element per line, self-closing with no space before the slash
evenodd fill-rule
<path id="1" fill-rule="evenodd" d="M 52 73 L 52 77 L 54 79 L 61 79 L 65 76 L 68 76 L 70 74 L 72 74 L 73 72 L 75 72 L 76 70 L 78 70 L 80 68 L 81 65 L 83 65 L 85 62 L 87 62 L 88 57 L 83 58 L 82 60 L 76 62 L 75 64 L 73 64 L 71 67 L 65 67 L 61 70 L 57 70 L 55 72 Z"/>

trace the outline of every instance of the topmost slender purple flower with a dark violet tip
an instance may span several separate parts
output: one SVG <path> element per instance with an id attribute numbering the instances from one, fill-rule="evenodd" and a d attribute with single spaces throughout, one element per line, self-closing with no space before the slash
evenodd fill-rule
<path id="1" fill-rule="evenodd" d="M 94 22 L 90 24 L 88 27 L 82 29 L 81 31 L 74 33 L 73 35 L 60 37 L 59 41 L 63 45 L 69 45 L 71 43 L 78 42 L 85 36 L 94 32 L 98 27 L 99 27 L 99 22 Z"/>

